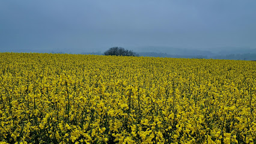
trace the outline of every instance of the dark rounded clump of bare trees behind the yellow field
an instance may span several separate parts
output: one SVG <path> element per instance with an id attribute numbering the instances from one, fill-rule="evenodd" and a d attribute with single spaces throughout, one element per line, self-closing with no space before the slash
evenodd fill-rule
<path id="1" fill-rule="evenodd" d="M 115 56 L 139 56 L 132 50 L 126 50 L 123 47 L 111 47 L 104 52 L 104 55 L 115 55 Z"/>

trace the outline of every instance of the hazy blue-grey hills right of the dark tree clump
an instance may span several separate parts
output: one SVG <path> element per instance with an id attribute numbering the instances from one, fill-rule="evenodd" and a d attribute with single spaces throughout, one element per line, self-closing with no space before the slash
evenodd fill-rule
<path id="1" fill-rule="evenodd" d="M 166 58 L 213 58 L 256 60 L 256 49 L 243 47 L 218 47 L 207 50 L 186 49 L 175 47 L 141 47 L 136 52 L 140 56 L 166 57 Z"/>

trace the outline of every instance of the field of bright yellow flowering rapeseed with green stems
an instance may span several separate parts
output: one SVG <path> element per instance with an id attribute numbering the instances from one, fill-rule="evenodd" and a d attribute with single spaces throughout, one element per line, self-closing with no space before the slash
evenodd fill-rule
<path id="1" fill-rule="evenodd" d="M 256 62 L 0 53 L 0 143 L 256 143 Z"/>

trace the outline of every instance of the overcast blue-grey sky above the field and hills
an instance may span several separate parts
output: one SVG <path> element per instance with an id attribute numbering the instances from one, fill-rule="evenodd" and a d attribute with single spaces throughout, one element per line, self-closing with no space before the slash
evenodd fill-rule
<path id="1" fill-rule="evenodd" d="M 1 0 L 0 52 L 256 48 L 255 0 Z"/>

